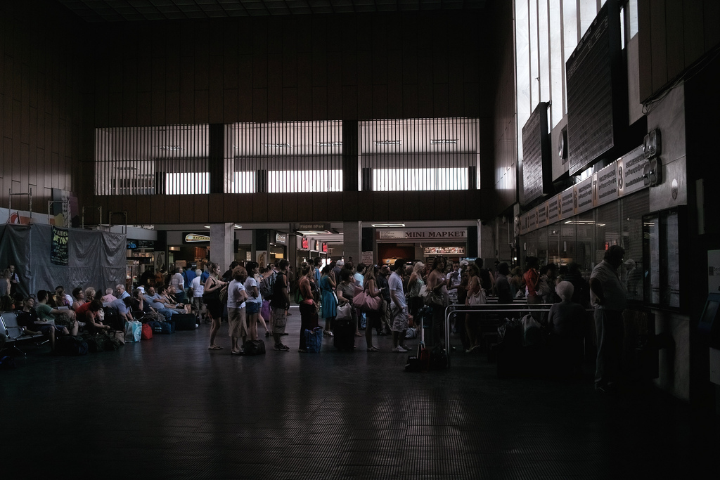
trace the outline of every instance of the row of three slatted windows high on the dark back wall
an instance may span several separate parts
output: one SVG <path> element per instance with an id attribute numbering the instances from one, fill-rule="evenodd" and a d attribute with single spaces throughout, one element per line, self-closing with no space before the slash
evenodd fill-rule
<path id="1" fill-rule="evenodd" d="M 369 120 L 358 122 L 357 135 L 343 151 L 340 121 L 100 128 L 95 192 L 343 191 L 347 168 L 353 178 L 357 168 L 361 191 L 467 190 L 480 184 L 478 119 Z"/>

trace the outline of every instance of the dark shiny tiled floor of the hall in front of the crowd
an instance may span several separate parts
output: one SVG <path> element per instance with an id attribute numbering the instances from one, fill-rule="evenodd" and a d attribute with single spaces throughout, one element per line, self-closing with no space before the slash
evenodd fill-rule
<path id="1" fill-rule="evenodd" d="M 0 371 L 2 479 L 718 478 L 717 426 L 634 384 L 498 379 L 484 356 L 406 373 L 367 353 L 230 356 L 209 327 Z M 413 340 L 411 345 L 416 345 Z M 702 469 L 704 468 L 704 469 Z"/>

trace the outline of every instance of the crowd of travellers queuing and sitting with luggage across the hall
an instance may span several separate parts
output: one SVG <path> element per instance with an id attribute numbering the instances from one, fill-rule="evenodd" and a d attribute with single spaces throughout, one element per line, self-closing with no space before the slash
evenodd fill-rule
<path id="1" fill-rule="evenodd" d="M 9 266 L 0 279 L 0 299 L 3 311 L 19 312 L 19 324 L 28 333 L 45 335 L 51 349 L 60 335 L 75 336 L 81 331 L 97 334 L 122 330 L 125 320 L 171 322 L 176 314 L 193 314 L 196 327 L 210 323 L 209 350 L 222 350 L 217 333 L 221 322 L 227 320 L 230 353 L 242 355 L 248 340 L 258 340 L 258 324 L 266 337 L 272 337 L 274 350 L 289 350 L 283 337 L 289 334 L 285 330 L 291 314 L 291 292 L 300 307 L 301 353 L 307 352 L 305 330 L 318 327 L 322 318 L 324 335 L 333 338 L 341 311 L 343 318 L 351 318 L 353 335 L 364 336 L 368 352 L 380 350 L 373 334 L 392 335 L 392 351 L 407 352 L 408 329 L 418 327 L 423 315 L 431 324 L 428 345 L 443 346 L 446 306 L 482 304 L 488 298 L 498 304 L 512 304 L 521 298 L 527 304 L 554 304 L 541 320 L 550 343 L 562 351 L 569 345 L 565 339 L 581 335 L 577 325 L 592 296 L 601 350 L 598 388 L 607 389 L 612 384 L 607 377 L 616 371 L 618 311 L 624 308 L 618 300 L 622 285 L 613 281 L 618 279 L 613 266 L 621 253 L 617 248 L 612 251 L 612 263 L 600 263 L 589 283 L 575 263 L 561 267 L 549 263 L 540 268 L 534 257 L 526 258 L 524 272 L 499 262 L 495 268 L 485 268 L 482 258 L 449 264 L 438 256 L 428 265 L 404 259 L 390 265 L 355 265 L 343 260 L 323 265 L 321 258 L 315 258 L 312 263 L 302 263 L 297 276 L 284 259 L 269 268 L 260 268 L 255 262 L 233 262 L 225 273 L 217 263 L 208 263 L 204 271 L 177 268 L 148 273 L 132 293 L 118 284 L 101 291 L 78 286 L 71 294 L 58 286 L 54 291 L 23 296 L 17 292 L 19 279 L 14 266 Z M 368 296 L 377 307 L 361 309 L 354 304 L 359 294 Z M 117 324 L 104 318 L 108 309 L 117 313 L 113 317 Z M 480 345 L 480 315 L 462 310 L 451 315 L 453 331 L 468 353 Z"/>

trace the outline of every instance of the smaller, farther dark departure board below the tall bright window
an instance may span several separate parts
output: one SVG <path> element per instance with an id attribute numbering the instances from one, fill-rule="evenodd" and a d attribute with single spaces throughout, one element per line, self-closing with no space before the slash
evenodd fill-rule
<path id="1" fill-rule="evenodd" d="M 547 107 L 541 101 L 523 127 L 523 204 L 540 198 L 552 184 Z"/>

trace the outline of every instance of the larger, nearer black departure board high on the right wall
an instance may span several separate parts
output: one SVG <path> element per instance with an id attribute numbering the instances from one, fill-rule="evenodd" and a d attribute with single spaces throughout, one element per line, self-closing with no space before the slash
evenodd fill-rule
<path id="1" fill-rule="evenodd" d="M 615 146 L 627 124 L 627 76 L 620 43 L 620 11 L 608 0 L 565 64 L 567 155 L 570 175 Z"/>

